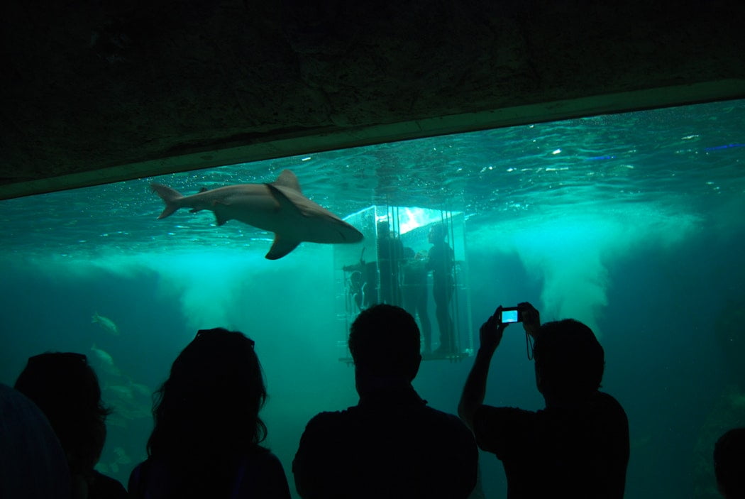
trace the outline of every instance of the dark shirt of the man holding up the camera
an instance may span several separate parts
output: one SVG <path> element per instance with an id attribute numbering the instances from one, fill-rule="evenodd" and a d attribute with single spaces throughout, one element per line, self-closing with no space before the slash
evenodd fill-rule
<path id="1" fill-rule="evenodd" d="M 482 405 L 474 433 L 504 464 L 509 499 L 624 495 L 629 422 L 607 393 L 538 412 Z"/>

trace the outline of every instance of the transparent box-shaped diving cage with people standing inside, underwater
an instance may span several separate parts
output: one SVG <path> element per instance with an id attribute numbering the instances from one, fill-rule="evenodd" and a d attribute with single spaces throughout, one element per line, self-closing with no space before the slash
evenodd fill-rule
<path id="1" fill-rule="evenodd" d="M 463 212 L 370 206 L 344 220 L 362 232 L 364 240 L 334 247 L 339 360 L 352 363 L 349 326 L 361 311 L 378 303 L 398 305 L 414 317 L 424 360 L 460 361 L 473 355 Z M 440 270 L 431 252 L 432 234 L 438 232 L 449 253 Z M 440 340 L 448 328 L 446 345 Z"/>

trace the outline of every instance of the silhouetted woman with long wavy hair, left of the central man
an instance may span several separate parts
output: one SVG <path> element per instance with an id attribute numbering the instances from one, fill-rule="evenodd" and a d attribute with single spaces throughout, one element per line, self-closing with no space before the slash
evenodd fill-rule
<path id="1" fill-rule="evenodd" d="M 253 340 L 201 330 L 156 392 L 148 460 L 130 476 L 133 498 L 289 498 L 285 471 L 259 443 L 267 398 Z"/>

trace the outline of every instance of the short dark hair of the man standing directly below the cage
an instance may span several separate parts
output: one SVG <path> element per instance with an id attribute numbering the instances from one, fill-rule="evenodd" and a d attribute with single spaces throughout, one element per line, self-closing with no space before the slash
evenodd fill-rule
<path id="1" fill-rule="evenodd" d="M 349 330 L 355 366 L 372 375 L 407 375 L 419 362 L 419 326 L 395 305 L 374 305 L 358 315 Z"/>

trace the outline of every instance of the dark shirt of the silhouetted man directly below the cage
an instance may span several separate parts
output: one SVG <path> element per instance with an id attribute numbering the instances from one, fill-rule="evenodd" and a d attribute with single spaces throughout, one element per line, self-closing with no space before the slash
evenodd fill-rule
<path id="1" fill-rule="evenodd" d="M 366 395 L 308 422 L 293 462 L 302 498 L 467 498 L 478 449 L 451 414 L 410 386 Z"/>

